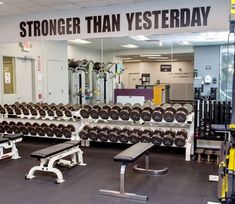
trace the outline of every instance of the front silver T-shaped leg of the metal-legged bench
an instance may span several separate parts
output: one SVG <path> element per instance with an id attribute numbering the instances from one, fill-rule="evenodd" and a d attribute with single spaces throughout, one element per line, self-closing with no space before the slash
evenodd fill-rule
<path id="1" fill-rule="evenodd" d="M 125 192 L 125 171 L 127 163 L 123 162 L 120 170 L 120 191 L 104 190 L 100 189 L 99 194 L 106 196 L 113 196 L 119 198 L 133 199 L 139 201 L 147 201 L 148 196 L 137 195 L 134 193 Z"/>

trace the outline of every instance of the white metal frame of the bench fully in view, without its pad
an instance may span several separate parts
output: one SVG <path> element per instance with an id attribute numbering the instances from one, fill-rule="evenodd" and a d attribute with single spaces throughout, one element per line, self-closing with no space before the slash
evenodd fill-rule
<path id="1" fill-rule="evenodd" d="M 71 156 L 71 160 L 62 159 L 67 156 Z M 63 174 L 58 168 L 55 168 L 55 164 L 69 168 L 75 165 L 86 166 L 86 164 L 83 162 L 83 151 L 79 148 L 79 146 L 74 146 L 49 157 L 41 158 L 40 165 L 32 167 L 28 174 L 26 174 L 25 178 L 34 178 L 36 171 L 52 172 L 57 176 L 56 183 L 63 183 L 65 181 Z"/>

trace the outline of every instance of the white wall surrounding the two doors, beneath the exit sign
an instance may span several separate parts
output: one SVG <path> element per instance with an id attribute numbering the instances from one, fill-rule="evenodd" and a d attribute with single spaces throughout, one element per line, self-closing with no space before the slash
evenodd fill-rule
<path id="1" fill-rule="evenodd" d="M 23 52 L 19 43 L 1 44 L 0 55 L 11 57 L 29 57 L 35 60 L 35 101 L 47 101 L 47 61 L 58 60 L 63 61 L 64 65 L 64 87 L 62 103 L 68 103 L 68 53 L 66 41 L 45 41 L 33 42 L 30 52 Z M 1 63 L 2 64 L 2 63 Z M 2 73 L 2 67 L 0 70 Z M 2 76 L 2 74 L 1 74 Z M 27 80 L 27 79 L 17 79 Z M 53 79 L 48 79 L 53 80 Z M 2 86 L 2 83 L 1 83 Z M 42 98 L 39 98 L 42 94 Z M 16 100 L 16 94 L 3 95 L 3 103 L 13 103 Z"/>

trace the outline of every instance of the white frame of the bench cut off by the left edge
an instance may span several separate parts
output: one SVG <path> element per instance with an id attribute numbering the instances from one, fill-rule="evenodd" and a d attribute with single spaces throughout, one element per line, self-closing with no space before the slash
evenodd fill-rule
<path id="1" fill-rule="evenodd" d="M 22 137 L 14 139 L 14 140 L 8 139 L 8 141 L 0 144 L 0 160 L 6 159 L 9 157 L 11 157 L 11 159 L 19 159 L 20 156 L 19 156 L 19 151 L 16 147 L 16 143 L 21 142 L 21 141 L 22 141 Z M 4 154 L 4 149 L 10 149 L 10 148 L 11 148 L 11 151 Z"/>

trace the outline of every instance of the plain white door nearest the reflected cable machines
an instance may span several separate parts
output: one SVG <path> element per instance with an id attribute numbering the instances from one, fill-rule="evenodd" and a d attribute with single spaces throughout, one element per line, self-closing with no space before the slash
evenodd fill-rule
<path id="1" fill-rule="evenodd" d="M 47 102 L 63 102 L 63 63 L 62 61 L 47 61 Z"/>

